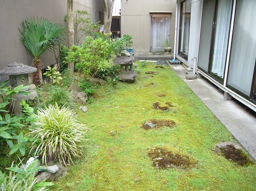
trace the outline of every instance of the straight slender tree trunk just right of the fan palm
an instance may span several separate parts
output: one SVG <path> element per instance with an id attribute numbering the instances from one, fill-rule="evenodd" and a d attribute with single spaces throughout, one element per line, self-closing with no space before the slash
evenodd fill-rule
<path id="1" fill-rule="evenodd" d="M 74 45 L 74 21 L 73 21 L 73 0 L 67 0 L 67 25 L 68 25 L 68 49 Z M 67 64 L 71 70 L 71 76 L 74 75 L 74 63 Z"/>

